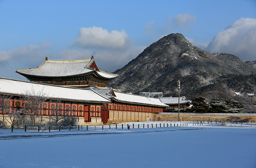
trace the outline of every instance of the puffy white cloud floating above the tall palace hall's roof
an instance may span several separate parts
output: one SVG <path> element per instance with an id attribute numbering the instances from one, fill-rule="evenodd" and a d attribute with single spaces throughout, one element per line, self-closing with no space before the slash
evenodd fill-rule
<path id="1" fill-rule="evenodd" d="M 86 48 L 126 49 L 132 45 L 132 40 L 125 30 L 108 32 L 102 27 L 93 26 L 80 28 L 73 43 Z"/>

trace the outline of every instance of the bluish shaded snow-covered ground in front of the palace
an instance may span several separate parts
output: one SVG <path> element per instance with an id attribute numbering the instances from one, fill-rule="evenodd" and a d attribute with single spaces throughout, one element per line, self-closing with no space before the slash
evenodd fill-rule
<path id="1" fill-rule="evenodd" d="M 154 128 L 147 128 L 153 123 Z M 161 128 L 159 124 L 161 123 Z M 165 123 L 165 127 L 163 127 Z M 139 122 L 72 131 L 0 129 L 0 168 L 256 168 L 256 124 Z M 145 128 L 143 129 L 143 124 Z M 158 124 L 158 128 L 155 128 Z M 179 127 L 177 127 L 177 124 Z M 180 124 L 188 126 L 180 127 Z M 213 124 L 213 125 L 212 125 Z M 170 122 L 168 122 L 170 126 Z"/>

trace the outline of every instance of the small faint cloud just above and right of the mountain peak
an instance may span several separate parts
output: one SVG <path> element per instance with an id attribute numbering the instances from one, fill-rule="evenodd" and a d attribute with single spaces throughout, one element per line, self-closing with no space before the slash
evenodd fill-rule
<path id="1" fill-rule="evenodd" d="M 188 13 L 178 14 L 172 19 L 172 23 L 175 27 L 181 27 L 185 30 L 192 28 L 192 25 L 196 22 L 196 16 L 189 15 Z"/>

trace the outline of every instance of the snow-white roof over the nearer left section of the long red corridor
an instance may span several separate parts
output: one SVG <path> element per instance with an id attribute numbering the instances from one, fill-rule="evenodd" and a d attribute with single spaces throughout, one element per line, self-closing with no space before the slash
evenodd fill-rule
<path id="1" fill-rule="evenodd" d="M 109 99 L 99 95 L 92 89 L 70 88 L 22 80 L 0 78 L 0 93 L 17 96 L 40 96 L 47 99 L 68 101 L 110 103 Z M 33 93 L 33 95 L 31 95 Z"/>

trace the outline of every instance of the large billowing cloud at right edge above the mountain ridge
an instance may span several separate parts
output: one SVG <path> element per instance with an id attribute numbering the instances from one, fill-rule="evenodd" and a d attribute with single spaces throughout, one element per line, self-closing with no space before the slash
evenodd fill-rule
<path id="1" fill-rule="evenodd" d="M 255 60 L 256 19 L 241 18 L 219 32 L 207 46 L 212 53 L 230 53 L 243 61 Z"/>

